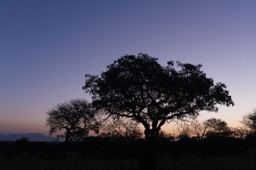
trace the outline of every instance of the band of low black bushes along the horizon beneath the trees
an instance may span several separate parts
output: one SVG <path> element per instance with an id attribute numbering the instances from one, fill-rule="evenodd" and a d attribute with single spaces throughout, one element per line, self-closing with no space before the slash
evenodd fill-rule
<path id="1" fill-rule="evenodd" d="M 204 139 L 180 134 L 160 136 L 155 148 L 156 164 L 161 164 L 164 158 L 173 164 L 179 164 L 184 157 L 209 159 L 212 157 L 246 157 L 256 149 L 256 134 L 250 134 L 244 139 L 232 136 L 214 135 Z M 29 142 L 22 138 L 15 142 L 0 143 L 0 157 L 3 161 L 15 160 L 56 160 L 69 158 L 92 158 L 99 160 L 135 159 L 137 169 L 148 164 L 145 158 L 147 141 L 143 138 L 118 136 L 96 136 L 84 138 L 84 141 L 74 142 Z M 256 155 L 254 154 L 253 157 Z"/>

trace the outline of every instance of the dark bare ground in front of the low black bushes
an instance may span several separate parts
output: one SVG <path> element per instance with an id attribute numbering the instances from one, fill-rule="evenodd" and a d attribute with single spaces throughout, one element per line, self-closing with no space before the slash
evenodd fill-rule
<path id="1" fill-rule="evenodd" d="M 159 157 L 159 156 L 158 156 Z M 157 169 L 256 169 L 256 157 L 253 154 L 242 156 L 198 158 L 180 156 L 177 159 L 162 155 L 157 160 Z M 97 158 L 97 157 L 70 157 L 65 159 L 38 160 L 13 159 L 0 160 L 0 170 L 65 170 L 65 169 L 140 169 L 137 159 L 127 158 Z"/>

